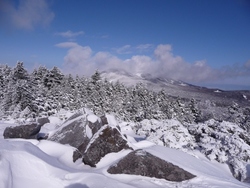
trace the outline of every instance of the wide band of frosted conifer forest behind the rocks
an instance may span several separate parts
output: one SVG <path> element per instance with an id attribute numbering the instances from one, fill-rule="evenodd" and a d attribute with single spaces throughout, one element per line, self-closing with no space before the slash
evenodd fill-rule
<path id="1" fill-rule="evenodd" d="M 204 100 L 205 101 L 205 100 Z M 32 73 L 18 62 L 14 68 L 0 65 L 0 118 L 49 116 L 61 109 L 91 109 L 97 115 L 114 113 L 127 121 L 172 119 L 197 123 L 214 118 L 250 127 L 250 108 L 237 103 L 218 107 L 213 101 L 169 96 L 143 84 L 126 87 L 101 78 L 64 75 L 59 68 L 39 67 Z"/>

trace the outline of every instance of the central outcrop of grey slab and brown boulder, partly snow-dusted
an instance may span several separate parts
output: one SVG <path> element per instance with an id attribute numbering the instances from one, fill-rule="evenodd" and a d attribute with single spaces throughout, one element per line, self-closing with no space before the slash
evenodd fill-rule
<path id="1" fill-rule="evenodd" d="M 127 143 L 125 140 L 121 140 L 122 136 L 117 129 L 104 129 L 102 130 L 103 132 L 101 132 L 102 135 L 98 133 L 98 138 L 94 136 L 103 128 L 103 125 L 106 124 L 108 124 L 108 121 L 105 116 L 99 118 L 94 114 L 77 112 L 69 117 L 61 127 L 49 137 L 49 140 L 61 144 L 69 144 L 77 148 L 73 153 L 73 161 L 84 158 L 83 161 L 85 161 L 86 164 L 95 166 L 107 153 L 120 151 L 121 148 L 123 149 L 123 145 Z M 113 142 L 113 145 L 111 142 Z M 88 150 L 86 151 L 87 146 Z"/>

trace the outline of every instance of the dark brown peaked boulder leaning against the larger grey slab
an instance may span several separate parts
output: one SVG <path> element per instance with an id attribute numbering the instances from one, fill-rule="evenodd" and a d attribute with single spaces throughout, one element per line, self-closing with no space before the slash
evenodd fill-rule
<path id="1" fill-rule="evenodd" d="M 78 148 L 83 153 L 82 161 L 91 167 L 95 167 L 106 154 L 119 152 L 123 149 L 130 149 L 127 141 L 116 127 L 109 125 L 103 126 L 92 137 L 85 151 L 82 148 Z"/>

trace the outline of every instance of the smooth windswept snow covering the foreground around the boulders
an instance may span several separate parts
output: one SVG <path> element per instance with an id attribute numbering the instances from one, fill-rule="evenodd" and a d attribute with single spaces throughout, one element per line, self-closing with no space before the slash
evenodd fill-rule
<path id="1" fill-rule="evenodd" d="M 55 119 L 55 118 L 54 118 Z M 109 122 L 116 124 L 110 116 Z M 47 124 L 47 130 L 58 129 L 58 121 Z M 4 128 L 10 123 L 0 122 L 0 187 L 1 188 L 247 188 L 249 184 L 236 180 L 227 165 L 210 161 L 201 153 L 189 155 L 180 150 L 155 145 L 137 136 L 130 125 L 120 124 L 134 149 L 143 148 L 151 154 L 169 161 L 197 177 L 180 183 L 137 175 L 107 173 L 110 165 L 127 155 L 130 150 L 110 153 L 96 168 L 73 163 L 75 148 L 52 141 L 3 139 Z M 64 124 L 62 124 L 63 126 Z M 171 135 L 169 135 L 171 136 Z M 181 138 L 182 139 L 182 138 Z M 189 139 L 189 138 L 186 138 Z"/>

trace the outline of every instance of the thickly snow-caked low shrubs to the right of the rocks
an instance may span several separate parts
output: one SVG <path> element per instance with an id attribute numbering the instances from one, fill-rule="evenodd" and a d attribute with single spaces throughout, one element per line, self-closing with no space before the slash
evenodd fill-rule
<path id="1" fill-rule="evenodd" d="M 249 181 L 250 135 L 234 123 L 211 119 L 183 125 L 177 120 L 143 120 L 133 129 L 157 145 L 191 155 L 201 152 L 211 161 L 227 164 L 236 179 Z"/>

